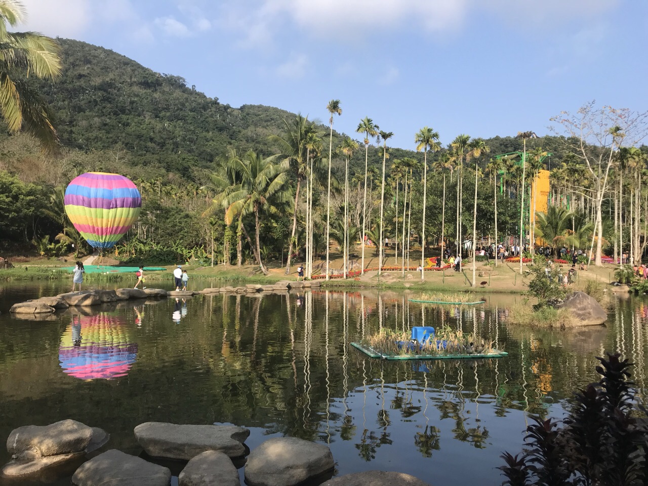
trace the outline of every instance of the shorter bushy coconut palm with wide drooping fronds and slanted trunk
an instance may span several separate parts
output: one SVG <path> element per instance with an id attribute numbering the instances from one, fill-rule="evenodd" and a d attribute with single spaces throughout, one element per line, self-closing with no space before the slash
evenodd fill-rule
<path id="1" fill-rule="evenodd" d="M 278 214 L 277 203 L 288 203 L 292 194 L 286 189 L 288 181 L 288 159 L 279 163 L 275 161 L 280 156 L 262 158 L 259 154 L 248 150 L 242 158 L 233 159 L 231 168 L 241 178 L 241 183 L 233 187 L 231 193 L 224 199 L 226 224 L 231 224 L 235 216 L 242 218 L 247 214 L 254 214 L 255 240 L 253 245 L 249 239 L 245 226 L 243 232 L 252 248 L 257 264 L 264 275 L 268 275 L 268 269 L 261 260 L 261 245 L 259 233 L 261 228 L 261 211 L 269 214 Z"/>

